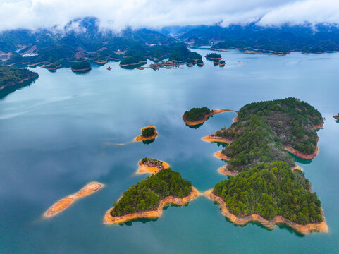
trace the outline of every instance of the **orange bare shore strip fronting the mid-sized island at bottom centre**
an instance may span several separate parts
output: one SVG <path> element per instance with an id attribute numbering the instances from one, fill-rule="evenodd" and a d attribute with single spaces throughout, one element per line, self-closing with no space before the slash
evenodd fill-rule
<path id="1" fill-rule="evenodd" d="M 121 223 L 124 223 L 124 222 L 129 222 L 133 219 L 161 217 L 162 210 L 164 209 L 164 206 L 169 205 L 169 204 L 185 205 L 188 202 L 197 198 L 197 196 L 199 196 L 199 195 L 200 195 L 199 191 L 197 191 L 196 188 L 192 187 L 192 192 L 190 193 L 190 195 L 187 195 L 184 198 L 175 198 L 173 196 L 168 196 L 168 197 L 162 199 L 156 210 L 144 211 L 144 212 L 135 212 L 135 213 L 132 213 L 132 214 L 126 214 L 126 215 L 122 215 L 122 216 L 113 217 L 111 215 L 111 210 L 113 208 L 110 208 L 106 212 L 103 222 L 104 222 L 104 224 L 121 224 Z"/>

